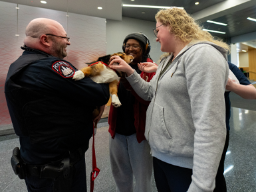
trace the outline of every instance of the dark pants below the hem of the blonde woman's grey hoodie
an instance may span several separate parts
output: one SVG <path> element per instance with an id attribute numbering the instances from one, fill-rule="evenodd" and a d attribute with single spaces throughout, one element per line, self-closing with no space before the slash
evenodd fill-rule
<path id="1" fill-rule="evenodd" d="M 192 182 L 192 169 L 181 168 L 153 158 L 158 192 L 186 192 Z"/>

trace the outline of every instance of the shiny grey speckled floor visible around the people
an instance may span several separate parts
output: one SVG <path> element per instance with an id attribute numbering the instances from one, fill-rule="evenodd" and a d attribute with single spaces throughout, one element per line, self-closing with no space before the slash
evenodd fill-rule
<path id="1" fill-rule="evenodd" d="M 225 178 L 229 192 L 256 191 L 256 111 L 231 109 L 229 149 L 225 160 Z M 115 191 L 116 187 L 108 158 L 108 123 L 101 122 L 96 134 L 96 160 L 100 174 L 95 180 L 95 192 Z M 26 191 L 24 180 L 20 180 L 11 169 L 12 150 L 19 146 L 15 135 L 0 137 L 0 191 Z M 90 144 L 91 146 L 91 144 Z M 92 169 L 91 148 L 86 152 L 87 185 Z M 154 192 L 156 185 L 152 179 Z"/>

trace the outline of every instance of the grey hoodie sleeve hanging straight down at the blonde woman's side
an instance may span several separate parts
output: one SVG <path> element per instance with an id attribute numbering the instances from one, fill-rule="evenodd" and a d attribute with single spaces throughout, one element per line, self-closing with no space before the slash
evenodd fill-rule
<path id="1" fill-rule="evenodd" d="M 195 134 L 188 192 L 213 191 L 225 144 L 224 90 L 229 70 L 225 58 L 212 46 L 190 52 L 185 71 Z"/>

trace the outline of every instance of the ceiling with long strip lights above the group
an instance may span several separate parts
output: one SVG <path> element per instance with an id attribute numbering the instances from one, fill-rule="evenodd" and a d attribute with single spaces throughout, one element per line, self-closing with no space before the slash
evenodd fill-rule
<path id="1" fill-rule="evenodd" d="M 225 32 L 225 34 L 211 32 L 214 36 L 228 39 L 256 31 L 256 22 L 247 20 L 247 17 L 256 19 L 256 0 L 45 0 L 47 4 L 40 3 L 40 0 L 0 1 L 102 17 L 116 21 L 122 21 L 122 17 L 130 17 L 155 22 L 154 16 L 159 10 L 122 7 L 122 4 L 176 6 L 184 7 L 203 28 Z M 199 5 L 195 5 L 195 2 L 199 2 Z M 97 7 L 102 7 L 103 9 L 98 10 Z M 227 26 L 207 23 L 207 20 L 225 23 Z M 256 42 L 253 41 L 246 42 L 245 45 L 256 48 Z"/>

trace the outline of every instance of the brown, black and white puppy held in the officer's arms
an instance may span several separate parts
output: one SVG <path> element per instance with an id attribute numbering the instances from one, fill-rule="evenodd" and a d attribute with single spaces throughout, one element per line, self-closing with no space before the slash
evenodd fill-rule
<path id="1" fill-rule="evenodd" d="M 122 105 L 118 99 L 117 96 L 117 86 L 118 86 L 118 82 L 120 77 L 122 76 L 123 73 L 122 72 L 114 72 L 114 70 L 106 67 L 104 64 L 109 65 L 110 62 L 110 57 L 112 56 L 120 56 L 120 58 L 122 58 L 122 60 L 124 60 L 126 63 L 130 64 L 130 62 L 132 62 L 133 57 L 132 56 L 128 56 L 122 52 L 118 52 L 116 54 L 112 54 L 112 55 L 107 55 L 107 56 L 103 56 L 98 58 L 98 60 L 91 62 L 91 63 L 86 63 L 89 66 L 86 68 L 82 68 L 81 70 L 78 70 L 77 72 L 74 73 L 74 80 L 80 80 L 83 79 L 84 77 L 90 77 L 92 79 L 92 81 L 96 82 L 96 83 L 108 83 L 109 85 L 109 93 L 110 93 L 110 97 L 112 100 L 112 105 L 114 107 L 120 107 L 120 105 Z M 95 62 L 98 62 L 98 64 L 92 65 Z M 104 64 L 102 64 L 102 62 Z M 118 64 L 116 64 L 118 65 Z M 99 111 L 98 111 L 99 113 Z M 98 115 L 98 113 L 96 111 L 94 111 L 94 116 L 96 117 Z"/>

